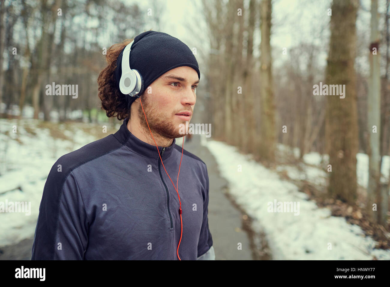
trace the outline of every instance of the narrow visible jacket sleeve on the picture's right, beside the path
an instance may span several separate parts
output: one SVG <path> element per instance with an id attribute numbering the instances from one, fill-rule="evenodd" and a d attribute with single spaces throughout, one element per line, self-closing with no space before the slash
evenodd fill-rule
<path id="1" fill-rule="evenodd" d="M 203 222 L 200 228 L 200 236 L 198 243 L 198 257 L 197 260 L 215 260 L 215 253 L 213 248 L 213 238 L 209 230 L 208 208 L 209 208 L 209 175 L 206 166 L 206 199 L 203 202 Z"/>

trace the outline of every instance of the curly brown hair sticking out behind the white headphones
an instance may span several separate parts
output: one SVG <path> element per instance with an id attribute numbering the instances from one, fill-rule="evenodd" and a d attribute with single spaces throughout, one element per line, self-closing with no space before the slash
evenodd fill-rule
<path id="1" fill-rule="evenodd" d="M 130 118 L 130 110 L 126 98 L 121 96 L 115 82 L 115 68 L 117 67 L 117 59 L 133 39 L 126 39 L 122 43 L 112 45 L 106 54 L 107 66 L 100 72 L 97 77 L 98 96 L 101 100 L 101 109 L 106 111 L 106 115 L 122 119 Z"/>

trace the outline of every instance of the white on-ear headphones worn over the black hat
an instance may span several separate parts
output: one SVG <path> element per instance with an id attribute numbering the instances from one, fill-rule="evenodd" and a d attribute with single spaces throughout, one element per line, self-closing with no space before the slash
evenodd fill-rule
<path id="1" fill-rule="evenodd" d="M 140 73 L 130 68 L 130 51 L 131 45 L 133 45 L 134 40 L 129 43 L 126 48 L 123 50 L 122 55 L 122 75 L 121 80 L 119 80 L 119 88 L 121 89 L 122 94 L 128 94 L 129 96 L 137 96 L 142 87 L 142 77 Z"/>

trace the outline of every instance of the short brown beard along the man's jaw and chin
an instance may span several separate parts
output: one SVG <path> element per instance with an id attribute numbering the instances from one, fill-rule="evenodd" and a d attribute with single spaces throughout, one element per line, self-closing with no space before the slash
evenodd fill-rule
<path id="1" fill-rule="evenodd" d="M 179 127 L 175 127 L 175 125 L 171 122 L 164 121 L 163 114 L 158 112 L 158 109 L 153 109 L 149 103 L 148 97 L 142 97 L 142 106 L 141 103 L 138 107 L 138 116 L 140 117 L 141 127 L 145 129 L 147 134 L 149 134 L 149 128 L 153 134 L 153 136 L 160 136 L 165 139 L 176 139 L 179 137 L 183 137 L 185 134 L 180 134 Z M 144 111 L 147 118 L 147 123 L 149 123 L 149 128 L 147 126 L 145 120 L 144 111 L 142 111 L 142 107 L 144 107 Z"/>

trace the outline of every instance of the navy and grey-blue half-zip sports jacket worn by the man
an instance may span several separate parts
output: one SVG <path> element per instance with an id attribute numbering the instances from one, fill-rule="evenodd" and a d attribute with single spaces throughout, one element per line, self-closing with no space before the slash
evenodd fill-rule
<path id="1" fill-rule="evenodd" d="M 39 206 L 32 260 L 179 260 L 179 198 L 156 146 L 127 128 L 60 157 Z M 181 147 L 159 147 L 176 185 Z M 181 260 L 215 260 L 206 164 L 184 150 Z"/>

